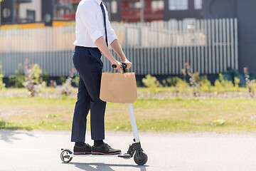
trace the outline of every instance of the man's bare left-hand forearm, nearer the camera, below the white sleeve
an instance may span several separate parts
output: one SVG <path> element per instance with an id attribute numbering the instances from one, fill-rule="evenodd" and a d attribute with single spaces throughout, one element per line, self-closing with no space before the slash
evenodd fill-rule
<path id="1" fill-rule="evenodd" d="M 100 36 L 100 38 L 97 38 L 97 40 L 95 41 L 95 45 L 100 49 L 100 51 L 108 58 L 108 60 L 110 60 L 110 62 L 112 64 L 115 64 L 117 66 L 116 69 L 120 69 L 121 68 L 121 63 L 119 63 L 119 61 L 117 61 L 113 56 L 112 53 L 110 52 L 110 49 L 107 48 L 107 43 L 105 41 L 105 39 Z"/>

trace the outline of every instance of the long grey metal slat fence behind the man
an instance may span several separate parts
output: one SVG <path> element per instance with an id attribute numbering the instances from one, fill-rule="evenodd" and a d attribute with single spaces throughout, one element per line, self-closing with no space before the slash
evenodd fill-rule
<path id="1" fill-rule="evenodd" d="M 238 69 L 237 19 L 112 23 L 112 28 L 137 75 L 181 74 L 184 63 L 202 74 Z M 74 67 L 74 41 L 75 26 L 1 30 L 4 76 L 14 74 L 26 58 L 48 76 L 68 76 Z M 102 61 L 103 70 L 112 71 L 107 58 Z"/>

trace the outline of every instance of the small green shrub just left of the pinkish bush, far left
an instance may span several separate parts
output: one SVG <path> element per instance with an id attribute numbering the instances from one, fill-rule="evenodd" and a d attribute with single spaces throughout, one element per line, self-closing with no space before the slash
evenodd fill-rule
<path id="1" fill-rule="evenodd" d="M 9 76 L 9 80 L 11 83 L 14 83 L 14 87 L 16 88 L 23 88 L 23 82 L 25 81 L 25 76 L 22 71 L 22 64 L 18 63 L 18 68 L 15 71 L 15 75 Z"/>

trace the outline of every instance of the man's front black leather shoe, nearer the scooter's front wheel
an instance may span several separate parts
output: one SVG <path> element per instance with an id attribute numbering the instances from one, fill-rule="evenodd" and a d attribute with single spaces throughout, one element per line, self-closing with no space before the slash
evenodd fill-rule
<path id="1" fill-rule="evenodd" d="M 121 150 L 114 149 L 107 143 L 100 145 L 100 147 L 92 146 L 92 155 L 117 155 L 119 153 L 121 153 Z"/>

